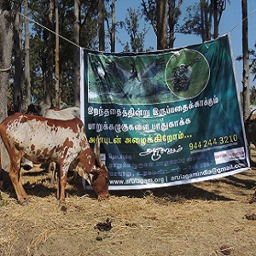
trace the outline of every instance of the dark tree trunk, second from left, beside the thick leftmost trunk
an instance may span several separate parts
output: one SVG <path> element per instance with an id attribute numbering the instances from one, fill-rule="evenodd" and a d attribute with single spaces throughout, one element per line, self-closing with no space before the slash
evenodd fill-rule
<path id="1" fill-rule="evenodd" d="M 23 65 L 22 65 L 22 27 L 20 15 L 15 14 L 15 79 L 13 90 L 14 111 L 21 112 L 23 108 L 23 93 L 22 93 L 22 78 L 23 78 Z"/>

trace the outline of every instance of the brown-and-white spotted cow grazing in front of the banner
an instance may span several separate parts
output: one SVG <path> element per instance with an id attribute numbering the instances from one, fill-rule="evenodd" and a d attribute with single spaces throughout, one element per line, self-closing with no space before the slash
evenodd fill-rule
<path id="1" fill-rule="evenodd" d="M 11 162 L 9 177 L 21 205 L 29 199 L 20 181 L 20 160 L 23 156 L 33 163 L 54 161 L 59 166 L 56 195 L 62 210 L 67 209 L 65 187 L 70 166 L 83 170 L 98 200 L 108 198 L 108 169 L 100 161 L 99 155 L 94 154 L 90 148 L 80 119 L 49 119 L 15 113 L 3 120 L 0 135 Z"/>

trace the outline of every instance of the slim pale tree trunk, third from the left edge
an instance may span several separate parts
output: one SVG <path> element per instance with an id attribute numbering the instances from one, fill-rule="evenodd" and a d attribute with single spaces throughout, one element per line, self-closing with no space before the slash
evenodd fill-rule
<path id="1" fill-rule="evenodd" d="M 24 2 L 24 15 L 27 17 L 28 13 L 28 4 L 27 0 Z M 26 107 L 31 104 L 31 78 L 30 78 L 30 55 L 29 55 L 29 26 L 28 26 L 28 20 L 25 18 L 24 21 L 25 24 L 25 85 L 26 85 L 26 90 L 25 90 L 25 102 L 26 102 Z"/>

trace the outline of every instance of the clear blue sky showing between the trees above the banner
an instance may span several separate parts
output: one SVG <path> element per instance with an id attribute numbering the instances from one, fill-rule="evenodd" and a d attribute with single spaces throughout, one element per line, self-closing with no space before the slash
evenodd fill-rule
<path id="1" fill-rule="evenodd" d="M 228 1 L 227 1 L 228 2 Z M 222 15 L 219 24 L 219 36 L 222 36 L 230 32 L 231 45 L 233 50 L 234 59 L 237 56 L 241 55 L 241 0 L 231 0 L 231 3 L 227 3 L 226 9 Z M 140 0 L 116 0 L 115 11 L 116 11 L 116 21 L 125 21 L 127 15 L 127 9 L 136 9 L 139 7 Z M 183 0 L 182 4 L 182 13 L 185 14 L 186 6 L 193 5 L 193 3 L 198 3 L 195 0 Z M 249 39 L 249 48 L 255 49 L 254 44 L 256 43 L 256 0 L 247 0 L 248 6 L 248 39 Z M 183 18 L 181 18 L 183 21 Z M 142 20 L 143 29 L 144 20 Z M 182 23 L 182 22 L 181 22 Z M 147 27 L 150 27 L 149 24 Z M 117 33 L 117 38 L 121 39 L 122 43 L 129 41 L 129 37 L 125 32 L 125 29 L 119 30 Z M 201 38 L 193 35 L 183 35 L 180 33 L 175 34 L 176 40 L 174 42 L 174 48 L 183 47 L 191 44 L 201 44 Z M 118 40 L 117 40 L 118 41 Z M 116 41 L 116 42 L 117 42 Z M 152 28 L 150 27 L 148 33 L 145 37 L 145 48 L 149 46 L 153 47 L 156 50 L 156 38 Z M 123 50 L 118 42 L 116 44 L 116 51 L 120 52 Z M 241 88 L 241 79 L 242 79 L 242 61 L 236 61 L 236 79 L 239 88 Z M 256 86 L 256 79 L 253 81 L 253 76 L 250 77 L 250 85 Z"/>

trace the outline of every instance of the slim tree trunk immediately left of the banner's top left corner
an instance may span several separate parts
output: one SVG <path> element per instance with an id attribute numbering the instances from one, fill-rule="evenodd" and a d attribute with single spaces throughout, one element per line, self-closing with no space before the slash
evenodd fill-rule
<path id="1" fill-rule="evenodd" d="M 80 1 L 74 0 L 73 20 L 73 70 L 74 70 L 74 104 L 80 106 Z"/>

